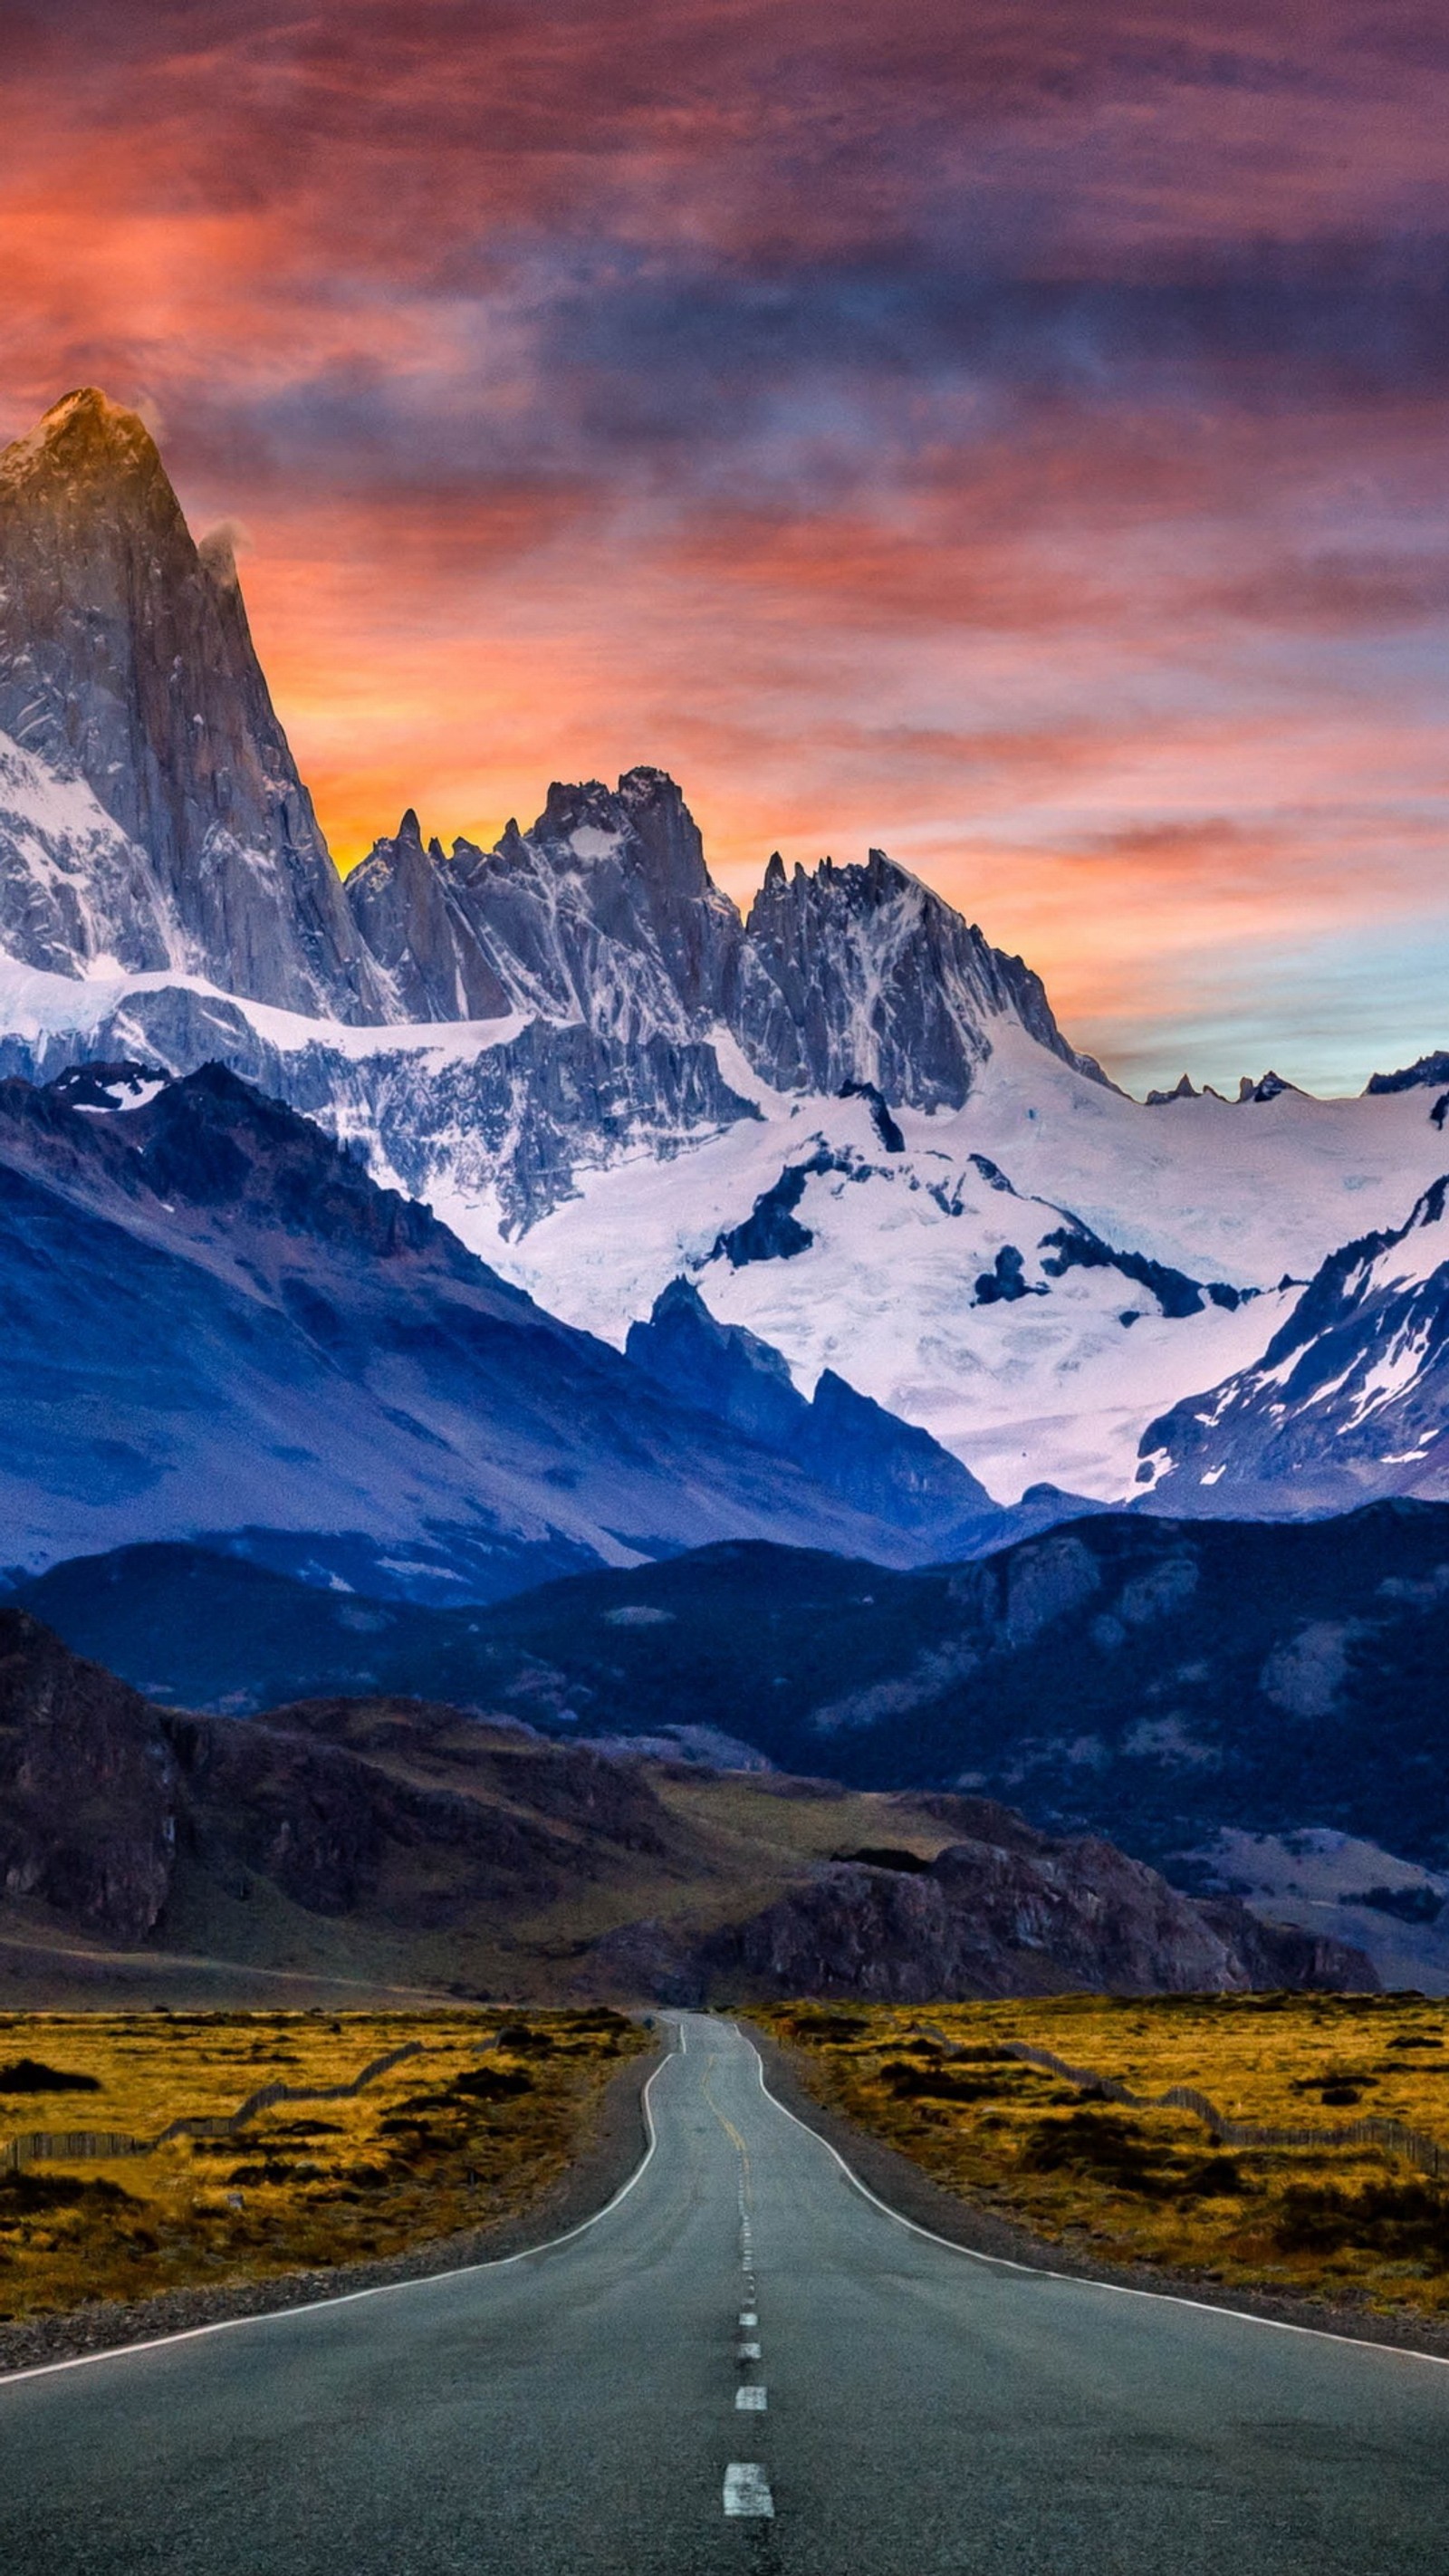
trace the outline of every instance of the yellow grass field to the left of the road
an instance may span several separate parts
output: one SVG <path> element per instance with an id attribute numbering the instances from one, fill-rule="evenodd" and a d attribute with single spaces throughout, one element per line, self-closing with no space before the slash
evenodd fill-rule
<path id="1" fill-rule="evenodd" d="M 152 2138 L 273 2081 L 350 2084 L 407 2043 L 420 2053 L 353 2099 L 278 2102 L 229 2138 L 0 2164 L 0 2318 L 489 2226 L 556 2179 L 602 2084 L 643 2048 L 607 2009 L 0 2014 L 0 2159 L 31 2130 Z"/>

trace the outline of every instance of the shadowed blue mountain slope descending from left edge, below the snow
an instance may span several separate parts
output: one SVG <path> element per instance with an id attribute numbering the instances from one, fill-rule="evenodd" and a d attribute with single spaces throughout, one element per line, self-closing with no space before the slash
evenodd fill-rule
<path id="1" fill-rule="evenodd" d="M 924 1553 L 221 1066 L 0 1084 L 0 1213 L 10 1564 L 211 1533 L 476 1600 L 723 1535 Z"/>

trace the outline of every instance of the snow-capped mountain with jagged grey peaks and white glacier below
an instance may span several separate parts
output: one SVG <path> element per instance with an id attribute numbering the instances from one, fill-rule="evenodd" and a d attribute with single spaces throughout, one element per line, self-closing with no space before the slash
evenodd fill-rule
<path id="1" fill-rule="evenodd" d="M 0 461 L 0 1072 L 224 1061 L 566 1324 L 623 1350 L 682 1280 L 806 1412 L 829 1373 L 996 1502 L 1156 1507 L 1145 1427 L 1449 1167 L 1434 1059 L 1122 1097 L 878 850 L 772 860 L 741 920 L 651 768 L 492 853 L 407 814 L 342 886 L 234 567 L 100 394 Z"/>

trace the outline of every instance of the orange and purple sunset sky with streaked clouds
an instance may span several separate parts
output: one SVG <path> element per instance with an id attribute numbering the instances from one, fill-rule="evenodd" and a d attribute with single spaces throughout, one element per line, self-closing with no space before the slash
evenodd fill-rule
<path id="1" fill-rule="evenodd" d="M 342 866 L 669 768 L 1132 1090 L 1449 1043 L 1439 0 L 0 0 L 0 435 L 229 520 Z"/>

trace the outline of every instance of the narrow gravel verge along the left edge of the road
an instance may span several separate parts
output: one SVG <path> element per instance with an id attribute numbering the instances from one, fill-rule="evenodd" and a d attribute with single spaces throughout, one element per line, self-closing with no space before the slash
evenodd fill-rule
<path id="1" fill-rule="evenodd" d="M 118 2352 L 165 2334 L 216 2326 L 232 2316 L 275 2316 L 283 2308 L 309 2308 L 317 2300 L 342 2298 L 347 2290 L 386 2290 L 401 2280 L 438 2280 L 443 2272 L 466 2272 L 476 2262 L 530 2254 L 535 2246 L 566 2236 L 584 2218 L 597 2218 L 638 2166 L 646 2146 L 643 2087 L 661 2056 L 664 2045 L 656 2032 L 651 2048 L 610 2076 L 595 2102 L 579 2154 L 522 2210 L 510 2210 L 463 2236 L 435 2236 L 404 2254 L 386 2254 L 381 2262 L 273 2272 L 265 2280 L 162 2290 L 157 2298 L 129 2303 L 95 2300 L 85 2308 L 69 2308 L 64 2316 L 23 2318 L 0 2326 L 0 2383 L 13 2370 L 72 2362 L 88 2352 Z"/>

